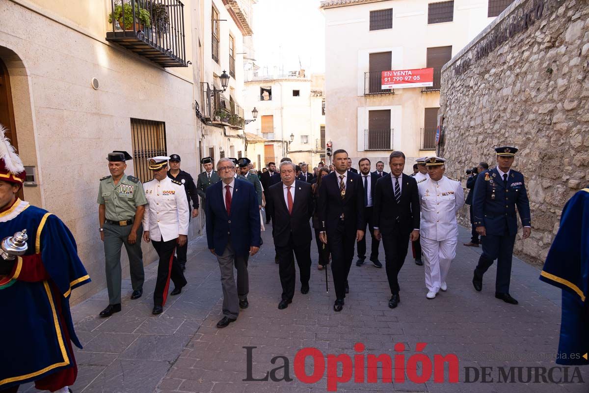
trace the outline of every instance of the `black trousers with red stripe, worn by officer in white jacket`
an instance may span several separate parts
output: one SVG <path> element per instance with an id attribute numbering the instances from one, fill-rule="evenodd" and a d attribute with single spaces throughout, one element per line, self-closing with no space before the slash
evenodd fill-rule
<path id="1" fill-rule="evenodd" d="M 163 306 L 166 304 L 168 297 L 168 288 L 170 288 L 170 279 L 174 282 L 176 288 L 186 285 L 187 281 L 184 278 L 184 273 L 180 268 L 178 259 L 174 256 L 174 249 L 178 245 L 178 239 L 159 242 L 151 240 L 155 252 L 160 257 L 160 262 L 157 266 L 157 279 L 155 280 L 155 290 L 153 292 L 154 306 Z"/>

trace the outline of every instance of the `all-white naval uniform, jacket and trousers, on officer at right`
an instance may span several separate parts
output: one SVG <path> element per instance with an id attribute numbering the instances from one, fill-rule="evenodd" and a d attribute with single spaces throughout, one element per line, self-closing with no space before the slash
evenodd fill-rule
<path id="1" fill-rule="evenodd" d="M 442 176 L 417 185 L 421 204 L 419 235 L 425 267 L 425 286 L 438 292 L 446 282 L 450 263 L 456 256 L 458 223 L 456 212 L 464 204 L 464 190 L 459 181 Z"/>

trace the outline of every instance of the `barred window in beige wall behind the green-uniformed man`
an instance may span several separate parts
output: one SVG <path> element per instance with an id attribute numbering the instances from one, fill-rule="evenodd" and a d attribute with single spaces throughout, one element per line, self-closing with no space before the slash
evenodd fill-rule
<path id="1" fill-rule="evenodd" d="M 131 141 L 135 177 L 145 183 L 153 179 L 148 160 L 151 157 L 167 156 L 166 123 L 131 118 Z"/>

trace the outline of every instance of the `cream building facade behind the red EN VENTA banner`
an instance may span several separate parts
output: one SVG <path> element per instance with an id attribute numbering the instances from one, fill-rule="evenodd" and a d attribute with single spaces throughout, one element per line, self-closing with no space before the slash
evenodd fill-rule
<path id="1" fill-rule="evenodd" d="M 439 72 L 494 16 L 492 1 L 326 0 L 326 138 L 386 162 L 391 150 L 435 154 Z M 434 68 L 434 86 L 380 89 L 380 72 Z"/>

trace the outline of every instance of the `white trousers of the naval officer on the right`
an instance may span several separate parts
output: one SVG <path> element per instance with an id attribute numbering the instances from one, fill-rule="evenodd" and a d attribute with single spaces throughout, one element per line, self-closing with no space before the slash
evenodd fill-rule
<path id="1" fill-rule="evenodd" d="M 438 293 L 442 282 L 446 282 L 450 263 L 456 256 L 457 237 L 446 240 L 432 240 L 420 237 L 425 267 L 425 286 Z"/>

